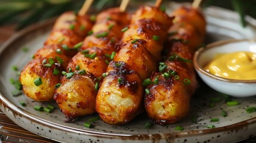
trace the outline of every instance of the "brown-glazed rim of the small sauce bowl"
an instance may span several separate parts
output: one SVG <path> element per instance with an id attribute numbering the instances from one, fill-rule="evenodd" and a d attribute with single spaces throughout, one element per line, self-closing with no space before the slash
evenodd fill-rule
<path id="1" fill-rule="evenodd" d="M 227 78 L 224 78 L 224 77 L 215 76 L 214 74 L 211 74 L 211 73 L 203 70 L 202 67 L 199 66 L 199 64 L 198 64 L 198 60 L 201 57 L 203 52 L 206 52 L 209 49 L 215 48 L 216 46 L 225 45 L 226 43 L 237 43 L 237 42 L 256 43 L 256 40 L 255 39 L 227 39 L 227 40 L 223 40 L 223 41 L 217 41 L 217 42 L 209 43 L 208 45 L 206 45 L 205 48 L 201 47 L 195 52 L 195 55 L 193 57 L 193 64 L 194 64 L 195 69 L 200 71 L 201 73 L 205 74 L 206 76 L 209 76 L 209 77 L 212 77 L 214 79 L 221 80 L 221 81 L 224 81 L 224 82 L 256 83 L 256 79 L 255 80 L 238 80 L 238 79 L 227 79 Z"/>

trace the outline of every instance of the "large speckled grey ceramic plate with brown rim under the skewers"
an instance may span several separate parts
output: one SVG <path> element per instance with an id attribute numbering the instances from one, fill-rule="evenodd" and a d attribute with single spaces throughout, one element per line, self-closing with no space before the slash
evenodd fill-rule
<path id="1" fill-rule="evenodd" d="M 176 8 L 177 4 L 166 4 L 169 9 Z M 208 21 L 206 42 L 219 39 L 242 39 L 255 37 L 256 21 L 247 17 L 248 26 L 242 28 L 239 16 L 232 11 L 221 8 L 207 8 L 205 10 Z M 17 66 L 21 70 L 30 60 L 30 55 L 41 48 L 50 33 L 53 22 L 37 24 L 14 35 L 0 49 L 0 108 L 17 125 L 41 136 L 60 142 L 235 142 L 251 136 L 256 132 L 256 113 L 246 113 L 245 108 L 255 107 L 256 98 L 231 98 L 239 101 L 239 105 L 228 106 L 226 96 L 208 88 L 203 83 L 193 97 L 190 113 L 180 122 L 159 126 L 153 125 L 146 114 L 141 114 L 131 123 L 124 126 L 112 126 L 101 120 L 92 122 L 94 128 L 85 128 L 91 116 L 81 117 L 72 123 L 64 123 L 64 115 L 59 110 L 53 113 L 35 111 L 34 105 L 57 107 L 55 102 L 36 102 L 25 95 L 13 97 L 11 91 L 15 88 L 10 83 L 10 78 L 17 79 L 17 73 L 12 69 Z M 24 52 L 27 47 L 29 51 Z M 216 98 L 218 97 L 218 98 Z M 216 101 L 216 99 L 220 101 Z M 19 101 L 27 103 L 26 107 Z M 227 117 L 221 116 L 221 111 Z M 192 123 L 193 116 L 198 115 L 196 123 Z M 218 122 L 210 122 L 212 117 L 218 117 Z M 150 122 L 150 129 L 144 128 L 144 123 Z M 208 125 L 214 125 L 209 129 Z M 176 126 L 183 126 L 184 130 L 175 131 Z"/>

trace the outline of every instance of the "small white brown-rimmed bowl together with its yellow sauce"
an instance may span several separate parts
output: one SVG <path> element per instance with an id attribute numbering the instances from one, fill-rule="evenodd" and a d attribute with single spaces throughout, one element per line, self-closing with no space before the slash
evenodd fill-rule
<path id="1" fill-rule="evenodd" d="M 196 51 L 193 64 L 199 77 L 212 89 L 233 97 L 256 95 L 256 42 L 226 40 Z"/>

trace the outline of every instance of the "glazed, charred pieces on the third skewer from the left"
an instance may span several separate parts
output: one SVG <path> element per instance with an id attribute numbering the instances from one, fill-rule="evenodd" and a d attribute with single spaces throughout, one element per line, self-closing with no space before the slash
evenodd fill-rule
<path id="1" fill-rule="evenodd" d="M 140 112 L 142 81 L 156 70 L 171 21 L 157 7 L 141 7 L 132 16 L 96 98 L 96 111 L 104 122 L 121 125 Z"/>

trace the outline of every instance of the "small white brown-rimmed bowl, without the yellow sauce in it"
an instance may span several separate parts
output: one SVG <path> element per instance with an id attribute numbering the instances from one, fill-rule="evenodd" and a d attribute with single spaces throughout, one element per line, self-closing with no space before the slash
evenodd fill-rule
<path id="1" fill-rule="evenodd" d="M 196 51 L 193 64 L 203 82 L 218 92 L 233 97 L 250 97 L 256 95 L 256 80 L 226 79 L 203 70 L 203 67 L 208 64 L 216 54 L 236 51 L 256 52 L 256 42 L 249 39 L 232 39 L 210 43 L 206 48 L 200 48 Z"/>

